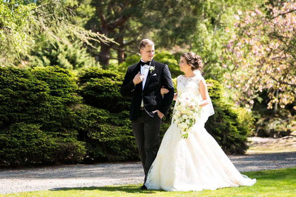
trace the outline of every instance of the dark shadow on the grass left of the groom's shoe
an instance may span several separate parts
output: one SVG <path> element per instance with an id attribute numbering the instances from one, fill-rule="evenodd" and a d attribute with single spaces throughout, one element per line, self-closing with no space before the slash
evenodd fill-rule
<path id="1" fill-rule="evenodd" d="M 142 185 L 141 185 L 142 186 Z M 51 191 L 73 191 L 73 190 L 100 190 L 100 191 L 124 191 L 127 193 L 143 193 L 143 194 L 153 194 L 157 191 L 163 190 L 141 190 L 140 185 L 119 185 L 119 186 L 105 186 L 105 187 L 61 187 L 53 188 Z"/>

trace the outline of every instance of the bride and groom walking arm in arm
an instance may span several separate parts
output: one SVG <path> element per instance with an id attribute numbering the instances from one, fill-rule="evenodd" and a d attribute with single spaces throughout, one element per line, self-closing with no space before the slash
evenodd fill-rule
<path id="1" fill-rule="evenodd" d="M 249 179 L 237 171 L 204 128 L 214 110 L 201 75 L 201 57 L 193 52 L 181 55 L 179 66 L 184 75 L 177 77 L 174 93 L 168 66 L 153 59 L 154 42 L 144 39 L 139 48 L 141 60 L 128 67 L 120 91 L 123 96 L 132 98 L 130 120 L 145 173 L 141 189 L 201 191 L 256 183 L 256 179 Z M 195 107 L 200 111 L 199 115 L 192 114 L 196 117 L 194 123 L 189 123 L 188 116 L 182 116 L 185 114 L 182 111 L 184 119 L 178 119 L 178 106 L 185 106 L 182 94 L 197 101 Z M 161 120 L 167 115 L 173 100 L 178 100 L 174 107 L 175 115 L 159 147 Z M 185 119 L 190 125 L 187 138 L 182 136 L 184 132 L 180 132 L 182 128 L 178 124 L 179 120 L 185 122 Z"/>

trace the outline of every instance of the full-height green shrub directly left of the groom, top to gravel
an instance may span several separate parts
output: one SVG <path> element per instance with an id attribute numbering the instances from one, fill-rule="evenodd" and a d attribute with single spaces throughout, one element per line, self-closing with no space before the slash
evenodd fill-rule
<path id="1" fill-rule="evenodd" d="M 79 93 L 93 106 L 84 105 L 77 110 L 81 120 L 88 122 L 82 130 L 87 159 L 126 161 L 138 157 L 129 120 L 130 98 L 120 94 L 123 78 L 123 73 L 97 68 L 89 68 L 79 75 Z"/>

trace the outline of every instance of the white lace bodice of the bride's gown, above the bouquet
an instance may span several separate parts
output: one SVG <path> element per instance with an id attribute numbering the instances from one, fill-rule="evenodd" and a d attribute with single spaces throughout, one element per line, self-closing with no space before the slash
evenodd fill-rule
<path id="1" fill-rule="evenodd" d="M 195 77 L 183 77 L 179 75 L 177 77 L 177 91 L 178 91 L 178 96 L 177 98 L 182 94 L 182 93 L 191 93 L 196 96 L 200 96 L 199 92 L 199 81 L 203 78 L 199 78 L 197 76 Z"/>

